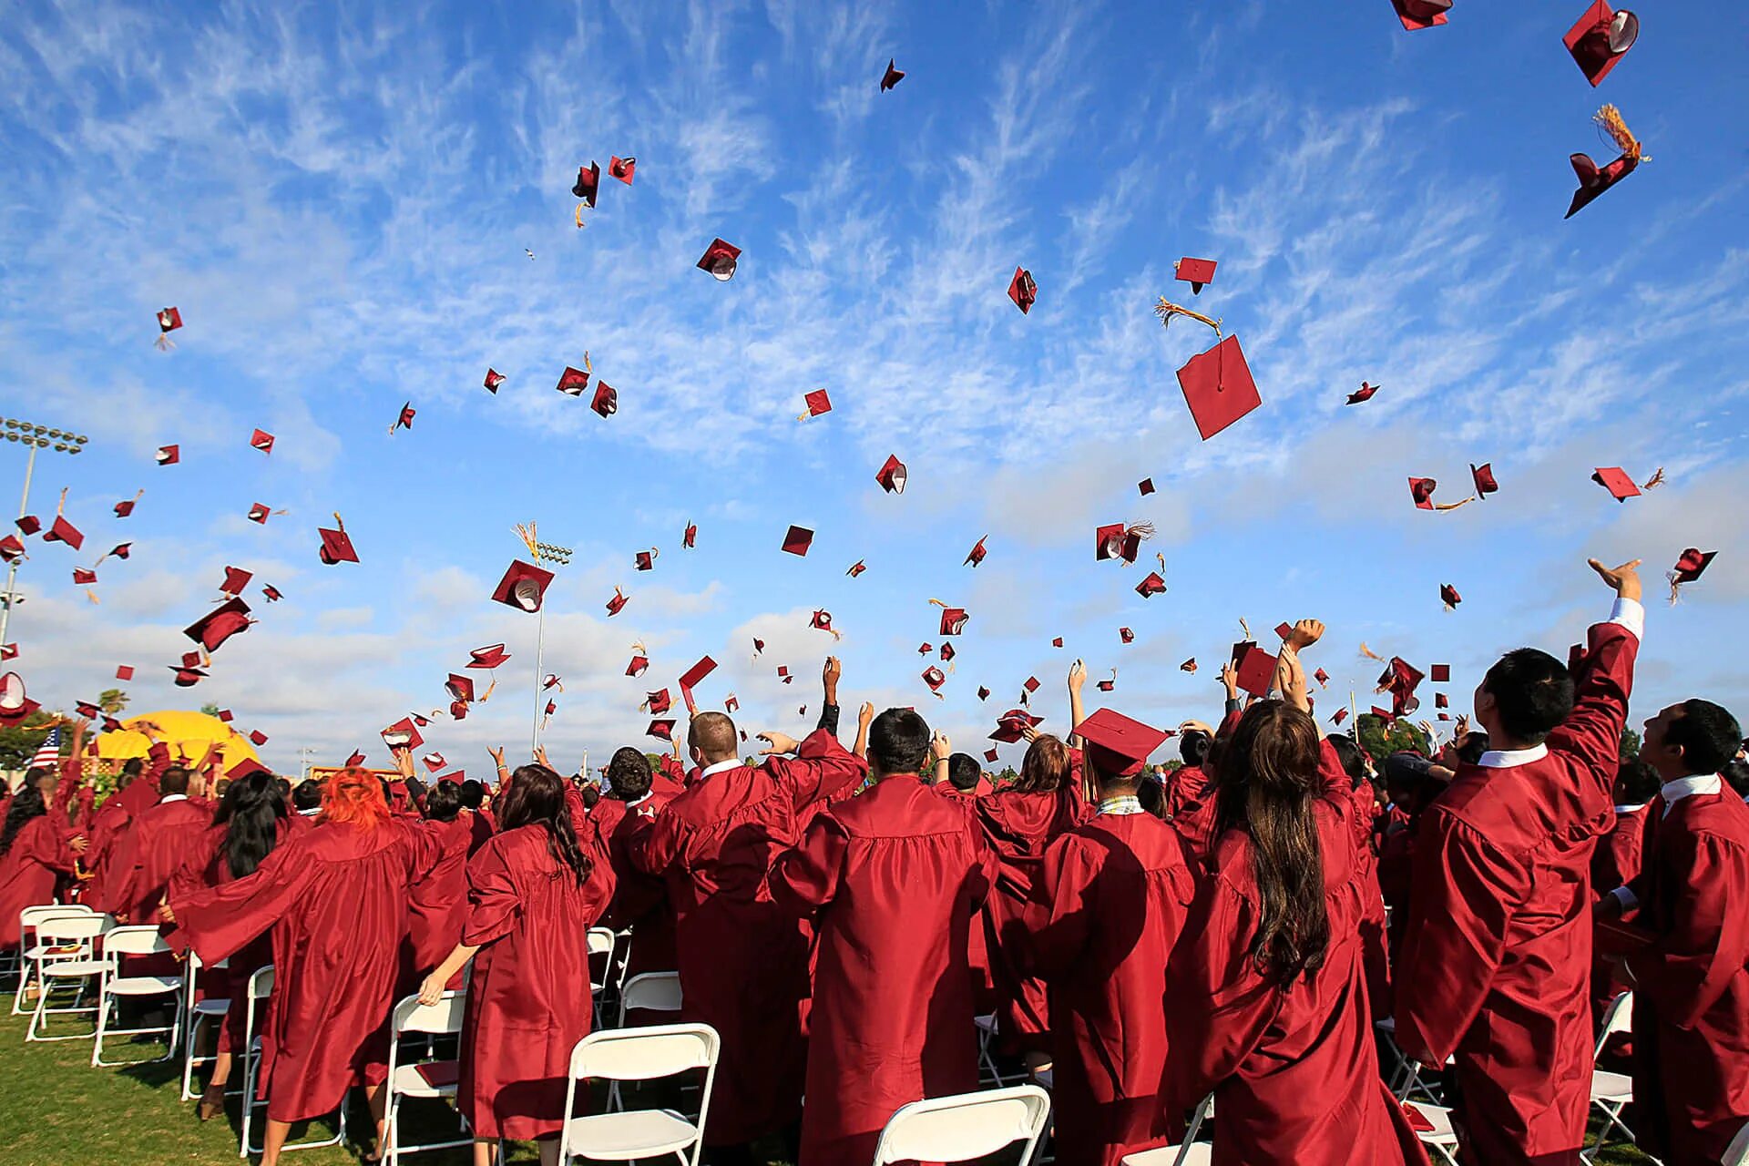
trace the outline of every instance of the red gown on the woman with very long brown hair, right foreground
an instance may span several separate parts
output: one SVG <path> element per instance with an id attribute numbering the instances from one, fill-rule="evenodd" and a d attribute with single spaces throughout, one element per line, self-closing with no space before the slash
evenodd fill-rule
<path id="1" fill-rule="evenodd" d="M 1214 1089 L 1214 1164 L 1424 1164 L 1378 1075 L 1361 967 L 1368 888 L 1348 815 L 1348 774 L 1322 746 L 1326 794 L 1313 804 L 1324 858 L 1329 947 L 1310 975 L 1279 988 L 1251 958 L 1263 914 L 1251 836 L 1226 830 L 1167 965 L 1167 1112 Z"/>

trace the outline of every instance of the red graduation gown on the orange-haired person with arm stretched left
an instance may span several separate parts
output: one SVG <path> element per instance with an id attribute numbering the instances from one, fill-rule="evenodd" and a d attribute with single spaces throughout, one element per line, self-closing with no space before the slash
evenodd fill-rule
<path id="1" fill-rule="evenodd" d="M 254 874 L 170 900 L 171 946 L 205 963 L 273 928 L 261 1068 L 273 1121 L 320 1117 L 348 1087 L 381 1079 L 408 888 L 437 855 L 436 836 L 399 818 L 374 830 L 322 822 L 289 836 Z"/>

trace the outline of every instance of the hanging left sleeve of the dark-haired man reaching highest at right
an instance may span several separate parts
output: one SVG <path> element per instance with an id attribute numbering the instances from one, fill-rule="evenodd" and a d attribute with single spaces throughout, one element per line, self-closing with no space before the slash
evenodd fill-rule
<path id="1" fill-rule="evenodd" d="M 1415 836 L 1410 918 L 1394 968 L 1397 1044 L 1443 1065 L 1481 1010 L 1525 872 L 1476 830 L 1429 809 Z"/>

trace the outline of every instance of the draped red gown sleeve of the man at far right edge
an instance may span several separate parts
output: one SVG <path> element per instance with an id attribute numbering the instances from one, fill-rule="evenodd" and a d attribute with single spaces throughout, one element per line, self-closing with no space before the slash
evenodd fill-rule
<path id="1" fill-rule="evenodd" d="M 1658 843 L 1658 878 L 1681 890 L 1670 930 L 1632 953 L 1628 970 L 1660 1017 L 1691 1028 L 1749 960 L 1749 913 L 1742 907 L 1749 902 L 1749 865 L 1739 846 L 1712 834 L 1667 834 Z"/>

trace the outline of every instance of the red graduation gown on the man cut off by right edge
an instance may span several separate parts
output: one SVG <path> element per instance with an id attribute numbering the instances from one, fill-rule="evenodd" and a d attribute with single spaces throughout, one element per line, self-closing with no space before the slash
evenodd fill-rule
<path id="1" fill-rule="evenodd" d="M 1730 787 L 1672 802 L 1630 888 L 1655 935 L 1628 956 L 1634 1131 L 1670 1166 L 1718 1163 L 1749 1122 L 1749 806 Z"/>

